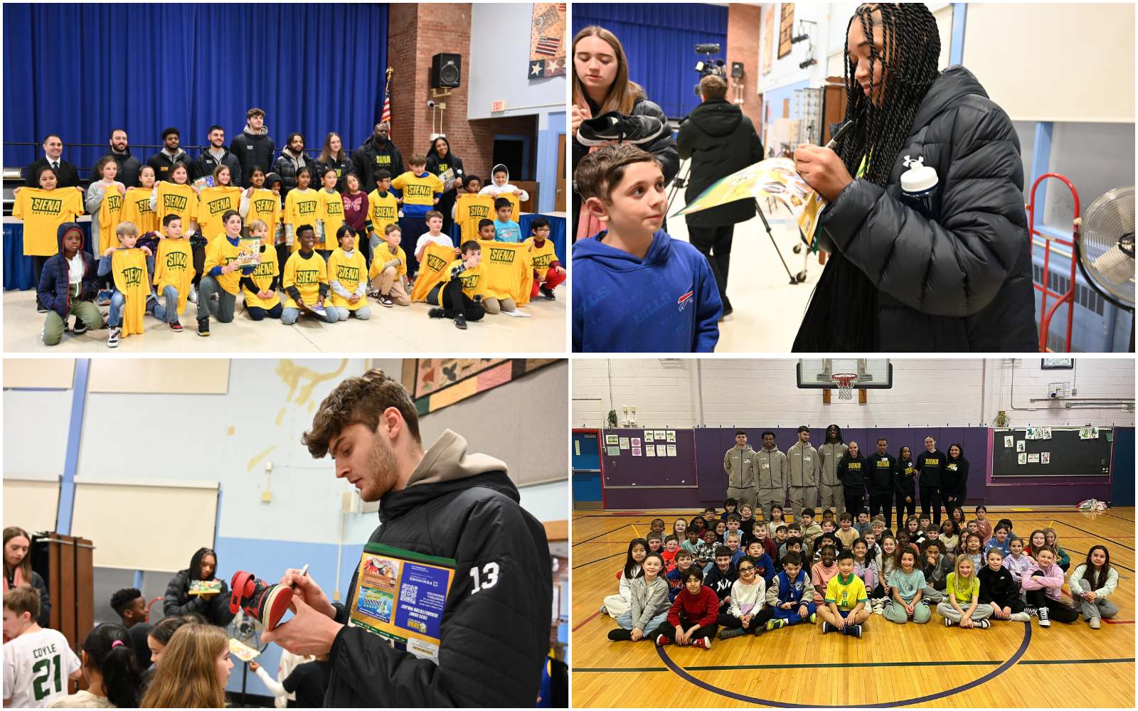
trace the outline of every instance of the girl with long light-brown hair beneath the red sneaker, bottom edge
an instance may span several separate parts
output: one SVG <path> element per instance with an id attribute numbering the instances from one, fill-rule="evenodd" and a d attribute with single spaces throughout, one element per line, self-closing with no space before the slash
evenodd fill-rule
<path id="1" fill-rule="evenodd" d="M 183 625 L 163 651 L 140 706 L 223 709 L 231 669 L 225 630 L 213 625 Z"/>

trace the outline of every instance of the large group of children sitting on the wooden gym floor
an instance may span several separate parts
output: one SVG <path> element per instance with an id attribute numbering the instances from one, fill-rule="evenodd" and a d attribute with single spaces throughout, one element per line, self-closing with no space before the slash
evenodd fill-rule
<path id="1" fill-rule="evenodd" d="M 923 625 L 931 605 L 947 627 L 965 629 L 1032 617 L 1048 627 L 1080 614 L 1098 629 L 1118 614 L 1108 601 L 1118 571 L 1104 546 L 1092 546 L 1066 580 L 1071 559 L 1054 528 L 1024 539 L 1007 519 L 993 528 L 982 505 L 970 521 L 953 509 L 940 527 L 910 515 L 896 536 L 864 509 L 836 524 L 828 509 L 820 524 L 813 509 L 792 523 L 780 506 L 770 511 L 759 521 L 728 498 L 721 514 L 709 507 L 691 522 L 676 519 L 670 534 L 653 520 L 629 544 L 619 590 L 601 606 L 619 625 L 609 639 L 710 648 L 716 633 L 727 639 L 819 619 L 823 634 L 861 637 L 872 614 Z M 1074 606 L 1062 601 L 1065 581 Z"/>

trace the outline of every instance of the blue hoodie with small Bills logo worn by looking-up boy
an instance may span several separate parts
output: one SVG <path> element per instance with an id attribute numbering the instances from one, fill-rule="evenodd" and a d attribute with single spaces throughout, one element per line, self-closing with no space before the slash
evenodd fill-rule
<path id="1" fill-rule="evenodd" d="M 663 230 L 644 259 L 601 241 L 572 246 L 576 353 L 711 353 L 723 303 L 707 258 Z"/>

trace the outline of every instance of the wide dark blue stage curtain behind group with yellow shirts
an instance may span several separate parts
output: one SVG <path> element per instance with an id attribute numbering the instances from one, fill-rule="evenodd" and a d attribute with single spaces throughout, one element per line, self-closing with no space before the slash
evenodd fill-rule
<path id="1" fill-rule="evenodd" d="M 380 3 L 5 3 L 5 165 L 42 157 L 58 133 L 80 167 L 107 150 L 110 131 L 132 143 L 160 144 L 175 126 L 183 146 L 225 144 L 253 107 L 279 151 L 300 132 L 307 149 L 336 131 L 345 149 L 371 135 L 384 106 L 387 5 Z M 422 67 L 395 67 L 409 86 Z M 140 155 L 143 163 L 157 149 Z M 191 159 L 197 151 L 188 151 Z M 267 170 L 269 166 L 265 166 Z M 81 174 L 86 179 L 86 174 Z"/>

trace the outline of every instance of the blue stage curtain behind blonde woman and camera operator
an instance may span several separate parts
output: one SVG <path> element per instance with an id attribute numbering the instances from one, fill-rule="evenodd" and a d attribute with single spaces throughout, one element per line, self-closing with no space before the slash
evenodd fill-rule
<path id="1" fill-rule="evenodd" d="M 696 44 L 718 43 L 719 58 L 729 67 L 727 8 L 695 2 L 609 3 L 574 2 L 574 35 L 589 25 L 600 25 L 617 35 L 628 57 L 628 78 L 648 92 L 669 118 L 683 118 L 700 98 L 695 63 Z M 716 57 L 712 55 L 712 60 Z"/>

